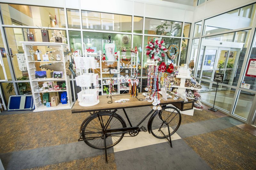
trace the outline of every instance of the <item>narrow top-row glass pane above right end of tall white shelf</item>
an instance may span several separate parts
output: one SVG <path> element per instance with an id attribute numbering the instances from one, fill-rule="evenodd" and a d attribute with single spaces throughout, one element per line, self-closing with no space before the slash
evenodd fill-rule
<path id="1" fill-rule="evenodd" d="M 79 10 L 67 9 L 68 28 L 80 29 Z"/>

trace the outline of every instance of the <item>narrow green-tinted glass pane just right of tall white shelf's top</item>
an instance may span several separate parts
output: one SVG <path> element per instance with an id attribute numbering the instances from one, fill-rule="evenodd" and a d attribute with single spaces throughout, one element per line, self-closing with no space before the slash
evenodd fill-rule
<path id="1" fill-rule="evenodd" d="M 69 31 L 70 51 L 73 53 L 76 50 L 82 51 L 82 39 L 80 31 Z"/>

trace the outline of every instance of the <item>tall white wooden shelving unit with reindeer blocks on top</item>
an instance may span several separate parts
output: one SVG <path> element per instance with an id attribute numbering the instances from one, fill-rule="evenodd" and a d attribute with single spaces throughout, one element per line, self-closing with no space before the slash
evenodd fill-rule
<path id="1" fill-rule="evenodd" d="M 33 95 L 33 100 L 35 104 L 35 110 L 34 112 L 39 112 L 39 111 L 47 111 L 47 110 L 60 110 L 60 109 L 70 109 L 74 102 L 72 102 L 72 96 L 71 96 L 71 89 L 70 89 L 70 81 L 69 81 L 69 76 L 66 75 L 66 68 L 65 68 L 65 62 L 68 61 L 68 55 L 66 52 L 68 51 L 68 45 L 65 43 L 55 43 L 55 42 L 31 42 L 31 41 L 22 41 L 20 42 L 22 44 L 22 48 L 25 52 L 26 56 L 26 63 L 27 63 L 27 68 L 28 68 L 28 76 L 29 76 L 29 81 L 31 85 L 31 92 Z M 62 56 L 61 61 L 31 61 L 31 56 L 29 53 L 29 48 L 33 46 L 44 46 L 44 47 L 51 47 L 53 48 L 52 50 L 59 49 L 58 52 L 54 52 L 56 54 L 60 54 Z M 40 47 L 39 47 L 40 49 Z M 51 49 L 48 49 L 50 51 Z M 65 52 L 65 53 L 64 53 Z M 36 55 L 35 55 L 36 56 Z M 42 54 L 41 54 L 42 57 Z M 39 71 L 37 67 L 38 64 L 40 63 L 62 63 L 62 78 L 36 78 L 35 71 Z M 66 82 L 66 88 L 67 90 L 43 90 L 41 92 L 36 92 L 36 89 L 39 87 L 42 87 L 42 85 L 39 82 L 48 82 L 48 81 L 65 81 Z M 55 107 L 46 107 L 43 104 L 43 101 L 41 99 L 41 93 L 44 92 L 67 92 L 67 97 L 68 101 L 67 104 L 62 104 L 61 102 L 59 103 L 58 106 Z"/>

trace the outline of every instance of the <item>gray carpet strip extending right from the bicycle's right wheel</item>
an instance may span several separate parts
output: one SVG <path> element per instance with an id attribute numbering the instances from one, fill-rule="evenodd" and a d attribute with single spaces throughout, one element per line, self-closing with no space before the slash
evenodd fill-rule
<path id="1" fill-rule="evenodd" d="M 221 119 L 210 119 L 201 122 L 188 123 L 180 125 L 180 128 L 177 130 L 177 134 L 181 138 L 191 137 L 195 135 L 200 135 L 203 133 L 209 133 L 216 130 L 226 129 L 233 127 L 234 125 Z"/>

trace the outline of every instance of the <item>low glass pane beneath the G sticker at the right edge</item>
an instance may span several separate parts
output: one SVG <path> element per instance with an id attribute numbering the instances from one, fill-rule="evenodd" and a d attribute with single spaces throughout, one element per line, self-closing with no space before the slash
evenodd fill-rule
<path id="1" fill-rule="evenodd" d="M 254 93 L 240 91 L 239 97 L 236 101 L 236 108 L 233 114 L 247 119 L 250 113 L 250 109 L 252 107 L 254 97 Z"/>

